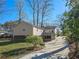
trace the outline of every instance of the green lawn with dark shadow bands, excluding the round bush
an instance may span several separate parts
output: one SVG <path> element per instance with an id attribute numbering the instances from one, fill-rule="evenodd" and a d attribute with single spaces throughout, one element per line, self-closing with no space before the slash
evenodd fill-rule
<path id="1" fill-rule="evenodd" d="M 18 43 L 0 43 L 0 59 L 17 59 L 21 54 L 27 54 L 31 51 L 27 51 L 27 48 L 32 47 L 32 44 L 26 42 L 18 42 Z M 4 59 L 5 59 L 4 58 Z"/>

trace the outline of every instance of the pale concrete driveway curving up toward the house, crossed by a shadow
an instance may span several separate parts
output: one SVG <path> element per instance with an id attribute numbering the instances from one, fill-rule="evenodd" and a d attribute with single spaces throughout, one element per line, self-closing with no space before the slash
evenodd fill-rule
<path id="1" fill-rule="evenodd" d="M 63 37 L 57 37 L 55 40 L 45 43 L 45 48 L 39 51 L 27 54 L 19 59 L 43 59 L 53 55 L 67 56 L 68 44 Z"/>

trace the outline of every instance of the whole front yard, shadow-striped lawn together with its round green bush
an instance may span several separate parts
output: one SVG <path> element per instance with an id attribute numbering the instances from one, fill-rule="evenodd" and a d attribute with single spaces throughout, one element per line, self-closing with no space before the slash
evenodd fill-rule
<path id="1" fill-rule="evenodd" d="M 28 36 L 23 40 L 0 40 L 0 59 L 18 59 L 22 55 L 44 48 L 39 36 Z"/>

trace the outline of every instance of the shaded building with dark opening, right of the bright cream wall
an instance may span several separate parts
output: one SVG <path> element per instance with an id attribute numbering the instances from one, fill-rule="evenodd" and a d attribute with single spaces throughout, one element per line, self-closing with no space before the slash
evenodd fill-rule
<path id="1" fill-rule="evenodd" d="M 42 36 L 45 39 L 45 41 L 55 39 L 55 26 L 46 26 L 44 28 Z"/>

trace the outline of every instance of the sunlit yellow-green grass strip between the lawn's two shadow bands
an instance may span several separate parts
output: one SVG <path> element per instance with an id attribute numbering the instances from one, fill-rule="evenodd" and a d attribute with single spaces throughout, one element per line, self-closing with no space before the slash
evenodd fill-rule
<path id="1" fill-rule="evenodd" d="M 15 49 L 28 48 L 31 44 L 28 43 L 14 43 L 9 45 L 0 46 L 0 53 L 12 51 Z"/>

